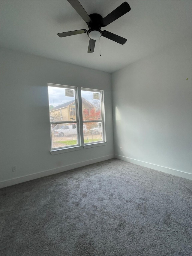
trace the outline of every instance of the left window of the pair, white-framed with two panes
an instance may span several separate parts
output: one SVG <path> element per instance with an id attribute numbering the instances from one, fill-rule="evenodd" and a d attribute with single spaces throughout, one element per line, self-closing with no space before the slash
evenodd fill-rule
<path id="1" fill-rule="evenodd" d="M 48 84 L 48 92 L 51 148 L 79 145 L 76 87 Z"/>

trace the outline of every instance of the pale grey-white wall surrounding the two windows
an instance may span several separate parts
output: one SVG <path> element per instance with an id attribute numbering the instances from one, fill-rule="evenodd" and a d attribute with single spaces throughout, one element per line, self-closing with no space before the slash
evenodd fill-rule
<path id="1" fill-rule="evenodd" d="M 107 145 L 50 154 L 47 83 L 104 90 Z M 111 75 L 2 49 L 0 131 L 1 186 L 113 158 Z"/>

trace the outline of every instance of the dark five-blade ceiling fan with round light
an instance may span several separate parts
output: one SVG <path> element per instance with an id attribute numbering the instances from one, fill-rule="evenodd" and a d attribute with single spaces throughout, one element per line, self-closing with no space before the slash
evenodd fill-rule
<path id="1" fill-rule="evenodd" d="M 110 14 L 106 17 L 102 17 L 100 14 L 90 14 L 88 15 L 85 9 L 82 7 L 78 0 L 67 0 L 70 5 L 75 9 L 75 11 L 81 16 L 81 18 L 87 23 L 89 30 L 86 29 L 79 29 L 74 31 L 68 31 L 63 33 L 58 33 L 59 37 L 65 37 L 70 35 L 78 35 L 87 33 L 89 39 L 88 45 L 88 53 L 93 53 L 95 48 L 95 41 L 99 39 L 101 36 L 113 40 L 119 44 L 125 44 L 127 41 L 126 38 L 123 38 L 119 35 L 113 34 L 109 31 L 101 31 L 101 27 L 105 27 L 112 23 L 113 21 L 117 20 L 124 14 L 128 13 L 131 10 L 131 7 L 127 2 L 123 2 L 119 7 L 113 10 Z"/>

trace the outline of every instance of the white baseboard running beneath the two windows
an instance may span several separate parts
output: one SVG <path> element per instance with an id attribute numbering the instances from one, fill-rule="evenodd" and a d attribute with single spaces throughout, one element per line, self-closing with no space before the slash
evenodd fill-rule
<path id="1" fill-rule="evenodd" d="M 111 159 L 111 158 L 114 158 L 113 154 L 112 155 L 105 155 L 103 157 L 98 157 L 98 158 L 94 158 L 94 159 L 90 159 L 90 160 L 87 160 L 87 161 L 82 161 L 82 162 L 79 162 L 79 163 L 76 163 L 76 164 L 69 164 L 69 165 L 59 167 L 59 168 L 55 168 L 55 169 L 52 169 L 52 170 L 46 170 L 46 171 L 39 172 L 39 173 L 29 174 L 29 175 L 26 175 L 26 176 L 15 178 L 15 179 L 8 179 L 8 180 L 0 182 L 0 188 L 12 186 L 12 185 L 15 185 L 15 184 L 19 184 L 19 183 L 26 182 L 26 181 L 33 180 L 33 179 L 38 179 L 38 178 L 49 176 L 49 175 L 56 174 L 56 173 L 61 173 L 61 172 L 72 170 L 72 169 L 82 167 L 82 166 L 85 166 L 85 165 L 88 165 L 88 164 L 95 164 L 95 163 L 105 161 L 105 160 L 108 160 L 108 159 Z"/>

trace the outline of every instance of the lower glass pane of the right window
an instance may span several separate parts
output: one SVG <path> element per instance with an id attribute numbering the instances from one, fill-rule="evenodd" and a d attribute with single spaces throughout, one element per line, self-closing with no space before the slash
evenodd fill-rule
<path id="1" fill-rule="evenodd" d="M 84 122 L 83 123 L 83 136 L 84 143 L 91 143 L 103 140 L 103 127 L 102 122 Z"/>

